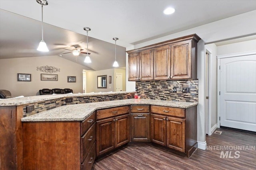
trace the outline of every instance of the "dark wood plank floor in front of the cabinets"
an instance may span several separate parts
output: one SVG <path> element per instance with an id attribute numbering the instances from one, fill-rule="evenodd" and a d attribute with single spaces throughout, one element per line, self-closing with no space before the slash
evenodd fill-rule
<path id="1" fill-rule="evenodd" d="M 128 145 L 98 160 L 94 170 L 169 170 L 169 169 L 226 169 L 256 170 L 256 135 L 228 129 L 217 129 L 221 135 L 206 135 L 206 143 L 212 149 L 196 150 L 187 158 L 153 145 Z M 215 146 L 215 150 L 214 150 Z M 248 146 L 240 150 L 237 146 Z M 218 148 L 217 148 L 218 147 Z M 229 147 L 233 150 L 224 150 Z M 251 147 L 251 148 L 250 148 Z M 251 149 L 251 150 L 250 150 Z M 221 152 L 232 151 L 230 158 L 220 158 Z M 236 152 L 239 151 L 240 153 Z M 236 154 L 235 154 L 236 152 Z M 237 158 L 239 156 L 239 158 Z M 223 157 L 223 156 L 222 156 Z M 233 158 L 232 158 L 233 157 Z"/>

